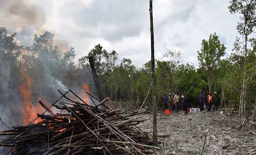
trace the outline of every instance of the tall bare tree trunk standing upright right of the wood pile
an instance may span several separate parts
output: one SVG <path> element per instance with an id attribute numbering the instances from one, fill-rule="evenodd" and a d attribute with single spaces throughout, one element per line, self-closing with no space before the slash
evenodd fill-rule
<path id="1" fill-rule="evenodd" d="M 153 7 L 152 1 L 149 0 L 150 14 L 150 36 L 151 36 L 151 75 L 152 75 L 152 105 L 153 105 L 153 144 L 157 146 L 157 120 L 156 120 L 156 75 L 155 75 L 155 51 L 154 51 L 154 29 L 153 29 Z"/>

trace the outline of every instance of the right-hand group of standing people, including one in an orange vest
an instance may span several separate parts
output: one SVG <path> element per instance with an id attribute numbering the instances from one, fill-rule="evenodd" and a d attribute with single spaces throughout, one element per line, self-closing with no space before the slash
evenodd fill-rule
<path id="1" fill-rule="evenodd" d="M 204 106 L 206 103 L 208 103 L 208 112 L 211 111 L 211 106 L 213 105 L 214 110 L 218 110 L 218 98 L 216 91 L 214 92 L 214 95 L 211 95 L 211 92 L 209 92 L 208 96 L 205 95 L 204 91 L 201 91 L 199 94 L 199 100 L 200 100 L 200 111 L 204 111 Z"/>

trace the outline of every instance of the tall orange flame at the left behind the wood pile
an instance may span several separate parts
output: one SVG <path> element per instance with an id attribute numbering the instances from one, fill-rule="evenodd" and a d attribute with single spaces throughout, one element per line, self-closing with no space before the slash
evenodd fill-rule
<path id="1" fill-rule="evenodd" d="M 23 124 L 26 125 L 29 122 L 33 121 L 37 117 L 37 114 L 42 112 L 42 107 L 39 103 L 33 105 L 31 101 L 33 100 L 32 93 L 32 83 L 28 75 L 28 72 L 22 72 L 23 82 L 19 86 L 19 91 L 21 92 L 22 104 L 21 104 L 21 119 L 23 119 Z M 22 121 L 22 120 L 21 120 Z M 42 121 L 40 118 L 35 121 L 35 123 Z"/>

